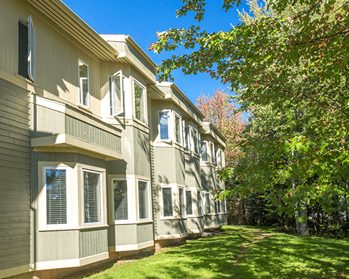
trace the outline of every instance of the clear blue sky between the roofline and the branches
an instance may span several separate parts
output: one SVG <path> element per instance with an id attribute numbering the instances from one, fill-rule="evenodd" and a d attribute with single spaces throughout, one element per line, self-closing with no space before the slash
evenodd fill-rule
<path id="1" fill-rule="evenodd" d="M 239 24 L 237 9 L 232 8 L 225 13 L 221 9 L 223 1 L 218 0 L 207 0 L 206 15 L 200 23 L 194 20 L 194 13 L 188 13 L 186 17 L 176 17 L 176 10 L 182 6 L 180 0 L 63 1 L 97 33 L 130 35 L 158 65 L 163 59 L 169 58 L 174 53 L 154 54 L 147 50 L 150 43 L 156 42 L 156 31 L 165 31 L 171 27 L 188 28 L 191 25 L 200 25 L 208 32 L 228 31 L 231 28 L 230 24 L 234 26 Z M 239 6 L 239 10 L 242 8 L 248 10 L 245 5 Z M 176 54 L 181 53 L 183 50 L 176 52 Z M 174 83 L 194 104 L 201 92 L 213 93 L 216 89 L 227 88 L 226 84 L 223 85 L 218 80 L 211 80 L 208 74 L 184 75 L 181 70 L 175 70 L 172 77 L 174 77 Z"/>

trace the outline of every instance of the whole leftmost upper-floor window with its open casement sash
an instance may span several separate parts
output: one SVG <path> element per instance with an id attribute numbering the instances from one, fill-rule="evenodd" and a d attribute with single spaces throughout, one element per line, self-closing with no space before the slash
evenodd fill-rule
<path id="1" fill-rule="evenodd" d="M 18 21 L 18 75 L 34 82 L 35 29 L 31 15 L 28 24 Z"/>

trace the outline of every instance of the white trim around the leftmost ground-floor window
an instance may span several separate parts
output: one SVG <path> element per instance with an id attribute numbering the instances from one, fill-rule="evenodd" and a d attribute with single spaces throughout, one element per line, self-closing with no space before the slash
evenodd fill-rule
<path id="1" fill-rule="evenodd" d="M 70 227 L 71 218 L 70 218 L 70 169 L 67 166 L 43 166 L 43 193 L 41 193 L 41 199 L 42 199 L 42 226 L 40 226 L 40 229 L 66 229 Z M 67 223 L 66 224 L 58 224 L 58 225 L 47 225 L 47 191 L 46 191 L 46 169 L 65 169 L 66 170 L 66 218 Z"/>

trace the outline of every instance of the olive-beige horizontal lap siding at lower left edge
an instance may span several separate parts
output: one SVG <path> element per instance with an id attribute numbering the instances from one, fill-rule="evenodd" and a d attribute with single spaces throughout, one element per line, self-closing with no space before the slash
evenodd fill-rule
<path id="1" fill-rule="evenodd" d="M 29 98 L 0 79 L 0 270 L 30 263 Z"/>

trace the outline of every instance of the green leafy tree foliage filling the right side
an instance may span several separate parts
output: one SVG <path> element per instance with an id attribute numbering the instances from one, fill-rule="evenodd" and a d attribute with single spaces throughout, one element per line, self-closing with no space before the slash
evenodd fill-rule
<path id="1" fill-rule="evenodd" d="M 205 0 L 181 0 L 177 15 L 205 15 Z M 240 0 L 223 0 L 228 10 Z M 251 13 L 230 31 L 200 27 L 158 33 L 155 52 L 191 49 L 156 69 L 209 73 L 228 83 L 242 110 L 253 110 L 244 158 L 225 169 L 234 193 L 265 193 L 279 213 L 348 200 L 349 1 L 248 0 Z M 306 217 L 304 217 L 306 218 Z"/>

